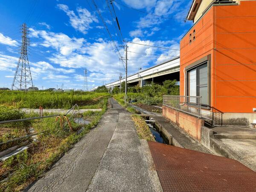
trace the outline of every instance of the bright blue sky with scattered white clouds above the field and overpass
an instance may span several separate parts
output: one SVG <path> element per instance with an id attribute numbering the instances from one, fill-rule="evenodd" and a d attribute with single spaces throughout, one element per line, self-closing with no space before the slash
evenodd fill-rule
<path id="1" fill-rule="evenodd" d="M 36 87 L 64 84 L 64 88 L 82 89 L 84 68 L 88 70 L 89 89 L 118 79 L 120 72 L 124 74 L 119 61 L 119 53 L 125 56 L 120 47 L 124 44 L 116 30 L 113 8 L 109 4 L 111 16 L 106 0 L 94 1 L 111 38 L 92 0 L 1 0 L 0 87 L 11 87 L 20 56 L 22 23 L 29 27 L 28 57 Z M 126 41 L 179 49 L 180 38 L 192 26 L 191 21 L 183 21 L 191 2 L 116 0 L 113 6 Z M 113 50 L 111 39 L 119 52 Z M 128 46 L 129 75 L 136 73 L 139 67 L 146 69 L 179 55 L 179 51 L 169 49 Z"/>

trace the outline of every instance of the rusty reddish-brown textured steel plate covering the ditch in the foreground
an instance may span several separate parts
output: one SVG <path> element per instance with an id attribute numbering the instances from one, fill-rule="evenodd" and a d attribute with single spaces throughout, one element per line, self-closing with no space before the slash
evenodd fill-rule
<path id="1" fill-rule="evenodd" d="M 256 172 L 236 160 L 148 141 L 163 191 L 256 192 Z"/>

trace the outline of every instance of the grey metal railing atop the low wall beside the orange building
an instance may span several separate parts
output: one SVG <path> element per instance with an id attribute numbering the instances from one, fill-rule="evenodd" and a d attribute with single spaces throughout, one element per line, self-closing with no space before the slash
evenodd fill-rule
<path id="1" fill-rule="evenodd" d="M 201 96 L 163 96 L 163 105 L 199 118 L 212 120 L 212 112 L 202 109 Z"/>

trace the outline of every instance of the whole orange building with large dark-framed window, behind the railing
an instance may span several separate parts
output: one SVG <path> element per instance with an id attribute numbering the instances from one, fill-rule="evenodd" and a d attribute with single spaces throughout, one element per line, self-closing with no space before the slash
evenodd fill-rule
<path id="1" fill-rule="evenodd" d="M 180 41 L 180 96 L 202 96 L 215 125 L 256 123 L 256 0 L 193 0 Z"/>

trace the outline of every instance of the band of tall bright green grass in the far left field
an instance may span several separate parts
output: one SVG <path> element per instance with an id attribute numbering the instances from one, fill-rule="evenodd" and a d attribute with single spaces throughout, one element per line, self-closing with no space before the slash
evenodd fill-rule
<path id="1" fill-rule="evenodd" d="M 95 105 L 96 108 L 102 96 L 109 96 L 108 93 L 93 92 L 52 92 L 52 91 L 0 91 L 0 105 L 13 108 L 71 108 L 78 104 L 81 106 Z"/>

